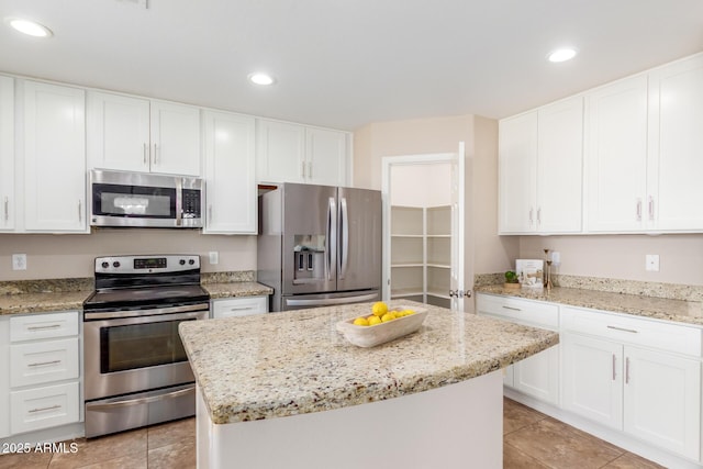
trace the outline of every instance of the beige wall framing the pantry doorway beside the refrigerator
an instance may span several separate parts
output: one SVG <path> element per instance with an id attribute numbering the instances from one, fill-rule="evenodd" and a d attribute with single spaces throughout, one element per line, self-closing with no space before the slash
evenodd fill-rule
<path id="1" fill-rule="evenodd" d="M 510 268 L 517 257 L 517 237 L 498 232 L 498 123 L 458 115 L 366 125 L 355 132 L 354 180 L 359 187 L 381 189 L 386 156 L 456 152 L 466 144 L 465 278 Z"/>

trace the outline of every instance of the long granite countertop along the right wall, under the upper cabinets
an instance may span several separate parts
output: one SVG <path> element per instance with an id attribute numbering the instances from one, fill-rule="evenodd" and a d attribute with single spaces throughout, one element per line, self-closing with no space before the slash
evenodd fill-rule
<path id="1" fill-rule="evenodd" d="M 590 308 L 703 326 L 703 302 L 700 301 L 670 300 L 639 294 L 563 287 L 555 287 L 551 290 L 528 288 L 512 289 L 496 284 L 476 287 L 475 292 L 548 301 L 571 306 Z"/>

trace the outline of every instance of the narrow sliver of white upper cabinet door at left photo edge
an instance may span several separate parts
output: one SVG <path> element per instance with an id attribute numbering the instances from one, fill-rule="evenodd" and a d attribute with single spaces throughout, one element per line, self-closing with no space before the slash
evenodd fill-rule
<path id="1" fill-rule="evenodd" d="M 0 231 L 14 228 L 14 80 L 0 77 Z"/>

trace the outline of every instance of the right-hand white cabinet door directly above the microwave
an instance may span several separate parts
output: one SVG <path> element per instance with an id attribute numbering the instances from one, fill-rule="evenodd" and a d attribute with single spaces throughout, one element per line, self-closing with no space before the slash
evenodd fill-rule
<path id="1" fill-rule="evenodd" d="M 152 101 L 152 172 L 200 176 L 200 109 Z"/>

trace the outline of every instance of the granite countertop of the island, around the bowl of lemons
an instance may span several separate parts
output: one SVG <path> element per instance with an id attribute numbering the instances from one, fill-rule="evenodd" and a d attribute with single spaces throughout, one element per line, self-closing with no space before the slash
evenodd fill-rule
<path id="1" fill-rule="evenodd" d="M 412 394 L 504 368 L 559 342 L 551 331 L 403 301 L 420 331 L 372 348 L 338 321 L 372 303 L 191 321 L 180 335 L 215 424 L 321 412 Z M 390 302 L 389 306 L 400 304 Z"/>

